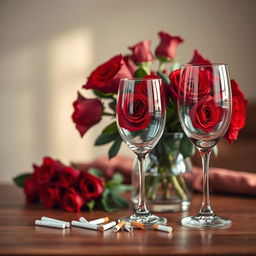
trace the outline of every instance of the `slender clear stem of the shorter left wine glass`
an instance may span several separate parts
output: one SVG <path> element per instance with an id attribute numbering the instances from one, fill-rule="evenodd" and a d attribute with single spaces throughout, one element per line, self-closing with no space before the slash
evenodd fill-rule
<path id="1" fill-rule="evenodd" d="M 137 155 L 139 164 L 139 201 L 136 213 L 140 215 L 145 215 L 149 212 L 145 198 L 145 158 L 145 155 Z"/>

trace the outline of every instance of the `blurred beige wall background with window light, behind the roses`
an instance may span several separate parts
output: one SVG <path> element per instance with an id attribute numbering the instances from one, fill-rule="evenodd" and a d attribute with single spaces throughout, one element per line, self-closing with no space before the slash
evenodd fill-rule
<path id="1" fill-rule="evenodd" d="M 81 139 L 72 102 L 95 67 L 141 40 L 154 50 L 161 30 L 185 40 L 176 61 L 197 49 L 229 64 L 249 100 L 248 122 L 239 141 L 221 143 L 212 165 L 256 171 L 255 11 L 255 0 L 1 0 L 0 182 L 46 155 L 68 163 L 106 154 L 94 141 L 108 120 Z M 132 155 L 125 146 L 121 153 Z"/>

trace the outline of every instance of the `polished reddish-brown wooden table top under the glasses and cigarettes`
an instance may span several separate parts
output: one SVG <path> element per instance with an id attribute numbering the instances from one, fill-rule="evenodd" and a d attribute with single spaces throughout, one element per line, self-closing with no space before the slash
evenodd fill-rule
<path id="1" fill-rule="evenodd" d="M 190 213 L 195 214 L 200 203 L 201 195 L 195 194 Z M 219 215 L 233 220 L 230 228 L 189 229 L 179 224 L 188 213 L 165 213 L 161 215 L 173 227 L 172 235 L 152 230 L 59 230 L 35 226 L 34 221 L 41 216 L 71 221 L 106 215 L 116 220 L 130 211 L 76 214 L 45 209 L 26 205 L 22 190 L 14 185 L 0 185 L 0 255 L 256 255 L 255 199 L 215 195 L 212 204 Z"/>

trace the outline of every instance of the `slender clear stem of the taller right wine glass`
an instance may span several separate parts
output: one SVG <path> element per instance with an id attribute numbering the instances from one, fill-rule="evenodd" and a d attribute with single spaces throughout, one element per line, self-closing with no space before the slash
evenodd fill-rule
<path id="1" fill-rule="evenodd" d="M 209 193 L 209 160 L 211 149 L 199 149 L 202 158 L 203 167 L 203 202 L 199 211 L 200 215 L 212 215 L 213 211 L 210 204 L 210 193 Z"/>

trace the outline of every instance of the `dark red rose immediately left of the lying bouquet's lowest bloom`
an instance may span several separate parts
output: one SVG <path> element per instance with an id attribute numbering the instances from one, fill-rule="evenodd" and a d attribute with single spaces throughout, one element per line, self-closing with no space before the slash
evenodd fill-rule
<path id="1" fill-rule="evenodd" d="M 40 188 L 40 199 L 47 208 L 53 208 L 59 205 L 59 188 L 56 186 L 42 186 Z"/>

